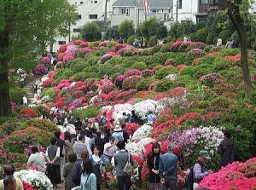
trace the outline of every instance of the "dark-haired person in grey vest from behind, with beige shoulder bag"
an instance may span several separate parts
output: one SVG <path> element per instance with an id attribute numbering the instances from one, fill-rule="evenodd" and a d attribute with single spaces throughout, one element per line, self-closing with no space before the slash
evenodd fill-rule
<path id="1" fill-rule="evenodd" d="M 130 159 L 131 164 L 133 164 L 133 159 L 131 158 L 131 154 L 125 150 L 125 141 L 119 141 L 117 143 L 117 147 L 119 148 L 119 153 L 114 154 L 113 160 L 116 169 L 118 187 L 119 190 L 130 190 L 131 176 L 125 174 L 124 168 L 128 159 Z"/>

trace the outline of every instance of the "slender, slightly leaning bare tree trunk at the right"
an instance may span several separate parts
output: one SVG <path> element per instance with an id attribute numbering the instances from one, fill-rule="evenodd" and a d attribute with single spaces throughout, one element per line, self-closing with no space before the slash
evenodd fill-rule
<path id="1" fill-rule="evenodd" d="M 249 99 L 253 93 L 253 83 L 248 66 L 246 28 L 244 20 L 240 14 L 239 4 L 241 4 L 241 0 L 235 0 L 232 2 L 228 0 L 228 14 L 239 36 L 241 47 L 241 70 L 246 88 L 245 97 L 246 99 Z"/>

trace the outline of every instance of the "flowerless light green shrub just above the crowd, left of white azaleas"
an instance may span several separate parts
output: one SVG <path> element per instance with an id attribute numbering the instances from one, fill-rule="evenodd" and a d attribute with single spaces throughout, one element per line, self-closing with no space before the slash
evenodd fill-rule
<path id="1" fill-rule="evenodd" d="M 98 107 L 86 107 L 85 109 L 73 110 L 71 116 L 74 118 L 95 118 L 100 112 Z"/>

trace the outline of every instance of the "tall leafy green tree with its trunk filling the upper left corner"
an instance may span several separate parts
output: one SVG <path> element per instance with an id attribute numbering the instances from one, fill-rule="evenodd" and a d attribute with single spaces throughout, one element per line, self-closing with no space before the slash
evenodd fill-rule
<path id="1" fill-rule="evenodd" d="M 61 16 L 67 13 L 67 5 L 67 0 L 0 1 L 0 116 L 10 115 L 9 65 L 15 66 L 17 57 L 26 55 L 38 44 L 44 49 L 43 41 L 49 44 L 55 35 L 63 32 L 56 31 L 67 21 L 66 16 Z M 54 16 L 56 13 L 59 16 Z"/>

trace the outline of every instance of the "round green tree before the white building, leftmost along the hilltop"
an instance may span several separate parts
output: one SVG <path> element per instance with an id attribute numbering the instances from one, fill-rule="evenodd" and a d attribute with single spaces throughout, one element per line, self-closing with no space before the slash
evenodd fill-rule
<path id="1" fill-rule="evenodd" d="M 81 30 L 81 36 L 84 41 L 97 41 L 102 38 L 100 27 L 94 22 L 87 22 Z"/>

